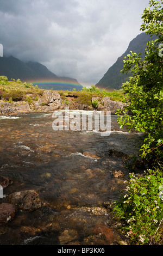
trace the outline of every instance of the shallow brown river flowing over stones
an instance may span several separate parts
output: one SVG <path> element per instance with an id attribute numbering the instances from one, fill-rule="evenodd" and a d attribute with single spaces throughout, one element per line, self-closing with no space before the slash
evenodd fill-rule
<path id="1" fill-rule="evenodd" d="M 120 197 L 130 170 L 122 157 L 110 156 L 108 150 L 136 155 L 141 134 L 120 130 L 114 115 L 109 136 L 99 131 L 55 131 L 52 124 L 52 113 L 0 117 L 0 175 L 13 181 L 4 188 L 0 203 L 22 190 L 37 190 L 46 202 L 35 211 L 19 210 L 1 225 L 0 245 L 116 244 L 120 234 L 106 205 Z M 114 178 L 114 170 L 124 176 Z"/>

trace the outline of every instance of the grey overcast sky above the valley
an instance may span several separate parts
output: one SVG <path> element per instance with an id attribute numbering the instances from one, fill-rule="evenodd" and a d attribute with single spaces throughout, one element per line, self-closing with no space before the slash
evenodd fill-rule
<path id="1" fill-rule="evenodd" d="M 149 0 L 0 0 L 4 56 L 96 84 L 140 31 Z"/>

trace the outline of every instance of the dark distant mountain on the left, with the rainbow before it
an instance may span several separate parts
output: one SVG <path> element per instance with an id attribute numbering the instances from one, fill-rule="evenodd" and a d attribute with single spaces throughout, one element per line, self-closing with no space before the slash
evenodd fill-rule
<path id="1" fill-rule="evenodd" d="M 12 78 L 20 79 L 22 82 L 32 82 L 42 89 L 82 90 L 83 88 L 74 78 L 58 77 L 41 63 L 24 63 L 13 56 L 0 57 L 0 76 L 7 76 L 8 80 Z"/>

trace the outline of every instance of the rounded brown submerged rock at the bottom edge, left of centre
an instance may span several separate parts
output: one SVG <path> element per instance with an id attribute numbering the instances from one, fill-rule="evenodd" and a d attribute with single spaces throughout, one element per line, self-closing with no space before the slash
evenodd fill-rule
<path id="1" fill-rule="evenodd" d="M 60 244 L 65 244 L 78 239 L 78 233 L 74 229 L 66 229 L 59 236 Z"/>

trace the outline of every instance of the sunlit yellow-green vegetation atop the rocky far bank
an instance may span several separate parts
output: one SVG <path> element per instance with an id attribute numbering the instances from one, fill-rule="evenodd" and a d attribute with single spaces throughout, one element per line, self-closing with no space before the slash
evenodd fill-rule
<path id="1" fill-rule="evenodd" d="M 29 101 L 37 100 L 37 97 L 41 96 L 45 89 L 40 89 L 36 86 L 33 86 L 32 83 L 22 83 L 20 79 L 9 81 L 6 76 L 0 76 L 0 100 L 3 101 Z M 110 96 L 111 100 L 114 101 L 123 101 L 124 96 L 122 92 L 114 91 L 114 92 L 106 92 L 105 90 L 100 90 L 95 86 L 91 88 L 83 88 L 80 92 L 73 89 L 72 91 L 57 91 L 61 99 L 66 101 L 68 97 L 71 97 L 71 100 L 77 103 L 86 104 L 91 106 L 92 97 L 105 97 Z M 30 98 L 29 98 L 30 95 Z M 68 100 L 67 100 L 68 102 Z"/>

